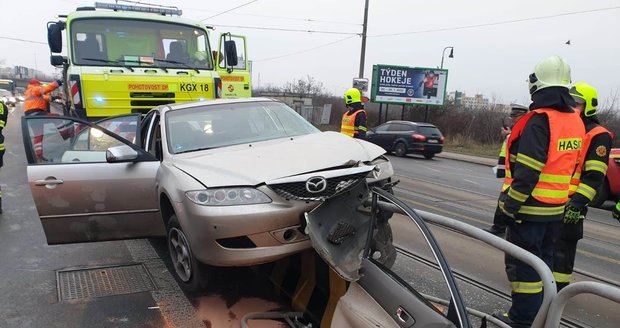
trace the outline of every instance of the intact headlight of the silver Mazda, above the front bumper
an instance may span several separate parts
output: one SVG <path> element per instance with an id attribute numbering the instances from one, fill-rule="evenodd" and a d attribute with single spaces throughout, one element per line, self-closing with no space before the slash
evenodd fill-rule
<path id="1" fill-rule="evenodd" d="M 271 203 L 262 191 L 249 187 L 216 188 L 185 192 L 192 202 L 204 206 L 230 206 Z"/>

